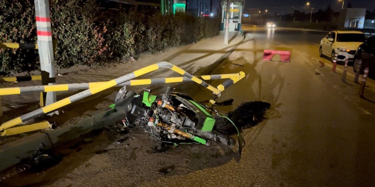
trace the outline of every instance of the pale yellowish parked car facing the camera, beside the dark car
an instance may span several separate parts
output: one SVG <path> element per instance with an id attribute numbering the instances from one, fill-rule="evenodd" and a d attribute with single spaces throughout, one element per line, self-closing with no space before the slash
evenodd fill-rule
<path id="1" fill-rule="evenodd" d="M 337 53 L 337 61 L 354 61 L 354 54 L 358 46 L 366 41 L 368 37 L 360 31 L 332 31 L 320 42 L 319 55 L 330 56 L 331 61 Z"/>

